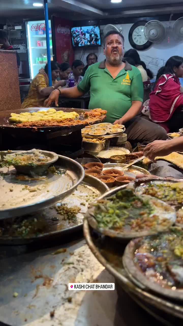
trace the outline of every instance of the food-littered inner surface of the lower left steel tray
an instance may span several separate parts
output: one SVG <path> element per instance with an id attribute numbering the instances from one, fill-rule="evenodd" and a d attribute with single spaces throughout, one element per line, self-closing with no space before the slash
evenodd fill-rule
<path id="1" fill-rule="evenodd" d="M 68 198 L 34 214 L 0 221 L 1 238 L 37 238 L 48 232 L 76 226 L 100 191 L 82 182 Z"/>

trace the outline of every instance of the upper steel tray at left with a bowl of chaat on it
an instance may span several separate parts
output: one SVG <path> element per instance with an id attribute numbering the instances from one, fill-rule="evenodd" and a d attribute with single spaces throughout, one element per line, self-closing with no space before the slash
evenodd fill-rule
<path id="1" fill-rule="evenodd" d="M 72 194 L 84 178 L 83 167 L 61 155 L 56 166 L 65 169 L 66 173 L 49 173 L 46 180 L 17 182 L 14 168 L 9 169 L 9 174 L 0 175 L 0 219 L 33 213 Z M 1 172 L 7 170 L 0 169 Z"/>

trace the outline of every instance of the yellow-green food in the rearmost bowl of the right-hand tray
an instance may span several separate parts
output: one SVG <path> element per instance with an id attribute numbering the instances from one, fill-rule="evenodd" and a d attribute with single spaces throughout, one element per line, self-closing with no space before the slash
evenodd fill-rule
<path id="1" fill-rule="evenodd" d="M 161 199 L 168 204 L 182 205 L 183 203 L 183 182 L 150 182 L 137 187 L 136 191 Z"/>

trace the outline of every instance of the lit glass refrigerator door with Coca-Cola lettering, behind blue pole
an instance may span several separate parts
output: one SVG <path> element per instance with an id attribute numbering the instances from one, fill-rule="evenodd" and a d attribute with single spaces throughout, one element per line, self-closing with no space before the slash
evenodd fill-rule
<path id="1" fill-rule="evenodd" d="M 27 48 L 29 55 L 30 78 L 38 74 L 40 68 L 44 68 L 47 63 L 46 30 L 45 21 L 26 22 Z M 49 20 L 49 46 L 51 60 L 53 60 L 51 21 Z"/>

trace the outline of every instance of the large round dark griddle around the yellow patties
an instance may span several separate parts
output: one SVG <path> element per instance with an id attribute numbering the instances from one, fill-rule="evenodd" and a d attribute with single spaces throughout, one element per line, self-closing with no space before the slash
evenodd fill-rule
<path id="1" fill-rule="evenodd" d="M 64 134 L 67 134 L 72 131 L 77 131 L 85 126 L 88 125 L 86 120 L 88 117 L 84 116 L 84 113 L 86 110 L 83 109 L 74 109 L 74 108 L 29 108 L 29 109 L 19 109 L 19 110 L 14 110 L 13 113 L 20 114 L 21 112 L 36 112 L 36 111 L 46 111 L 49 109 L 55 109 L 56 111 L 64 111 L 64 112 L 77 112 L 79 114 L 78 120 L 81 120 L 82 123 L 78 125 L 69 125 L 69 126 L 49 126 L 49 127 L 17 127 L 16 124 L 10 124 L 9 123 L 9 118 L 10 114 L 12 111 L 2 111 L 0 112 L 0 129 L 5 129 L 9 130 L 9 132 L 21 132 L 22 131 L 27 131 L 27 130 L 37 130 L 37 131 L 63 131 Z M 93 121 L 90 122 L 90 125 L 96 124 L 103 122 L 106 118 L 106 115 L 102 115 L 101 117 L 96 117 L 93 119 Z"/>

